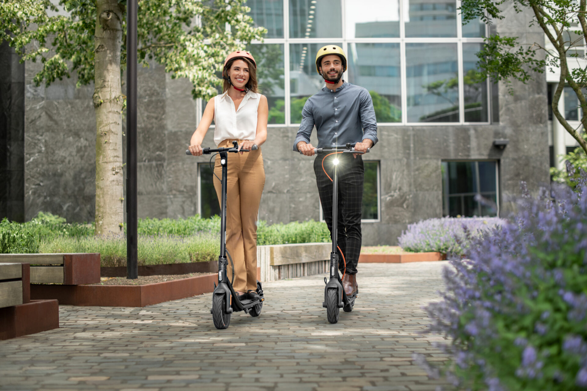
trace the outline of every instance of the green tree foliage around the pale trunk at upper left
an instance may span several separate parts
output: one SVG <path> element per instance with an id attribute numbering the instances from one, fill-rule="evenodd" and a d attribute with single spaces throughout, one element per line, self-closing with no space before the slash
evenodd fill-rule
<path id="1" fill-rule="evenodd" d="M 60 11 L 59 14 L 49 16 Z M 63 12 L 65 11 L 65 12 Z M 187 77 L 193 96 L 217 94 L 225 56 L 261 39 L 265 28 L 253 28 L 245 0 L 141 0 L 138 15 L 139 63 L 163 64 L 171 77 Z M 66 15 L 63 15 L 66 13 Z M 22 60 L 41 60 L 34 81 L 49 85 L 77 74 L 77 86 L 94 80 L 96 0 L 5 0 L 0 3 L 0 42 L 6 40 Z M 200 19 L 201 23 L 193 21 Z M 122 15 L 126 31 L 126 14 Z M 230 25 L 230 31 L 225 25 Z M 207 43 L 204 43 L 207 40 Z M 50 41 L 50 42 L 48 42 Z M 121 47 L 121 72 L 126 69 L 126 35 Z"/>

